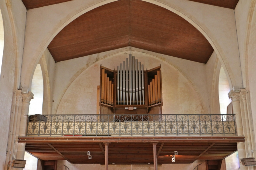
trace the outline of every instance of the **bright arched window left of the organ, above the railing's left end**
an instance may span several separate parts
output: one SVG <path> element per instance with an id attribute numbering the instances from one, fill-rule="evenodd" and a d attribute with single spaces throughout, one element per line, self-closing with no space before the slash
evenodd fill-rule
<path id="1" fill-rule="evenodd" d="M 40 64 L 36 66 L 32 79 L 31 91 L 34 94 L 34 99 L 30 102 L 28 114 L 42 114 L 43 75 Z"/>

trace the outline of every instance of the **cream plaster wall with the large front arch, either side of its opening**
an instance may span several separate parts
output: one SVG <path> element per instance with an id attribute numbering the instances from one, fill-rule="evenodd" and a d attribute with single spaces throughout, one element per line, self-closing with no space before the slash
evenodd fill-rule
<path id="1" fill-rule="evenodd" d="M 81 14 L 109 1 L 74 0 L 28 10 L 21 84 L 30 86 L 32 72 L 53 37 Z M 231 86 L 242 87 L 234 10 L 182 0 L 147 0 L 167 8 L 193 24 L 213 45 Z M 198 87 L 201 88 L 201 87 Z M 208 106 L 208 105 L 206 105 Z M 206 107 L 205 106 L 205 107 Z"/>

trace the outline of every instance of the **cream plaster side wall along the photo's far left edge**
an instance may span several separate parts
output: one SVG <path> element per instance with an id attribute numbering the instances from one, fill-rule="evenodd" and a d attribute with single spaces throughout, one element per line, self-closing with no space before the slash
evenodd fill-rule
<path id="1" fill-rule="evenodd" d="M 18 88 L 18 79 L 23 54 L 26 23 L 26 8 L 21 0 L 0 1 L 4 23 L 4 51 L 0 75 L 0 169 L 4 169 L 12 113 L 13 91 Z"/>

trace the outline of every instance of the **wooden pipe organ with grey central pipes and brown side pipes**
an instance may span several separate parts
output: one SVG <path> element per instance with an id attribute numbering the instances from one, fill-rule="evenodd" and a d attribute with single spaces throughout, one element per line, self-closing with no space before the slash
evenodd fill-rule
<path id="1" fill-rule="evenodd" d="M 161 65 L 144 70 L 129 54 L 111 70 L 100 66 L 100 114 L 162 114 Z"/>

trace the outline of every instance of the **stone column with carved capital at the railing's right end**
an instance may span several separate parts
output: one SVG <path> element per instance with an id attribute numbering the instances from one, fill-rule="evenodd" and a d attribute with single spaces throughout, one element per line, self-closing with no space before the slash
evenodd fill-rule
<path id="1" fill-rule="evenodd" d="M 228 93 L 229 98 L 232 100 L 233 110 L 236 119 L 236 132 L 238 136 L 244 136 L 243 134 L 243 123 L 242 123 L 242 116 L 241 116 L 241 107 L 240 107 L 240 92 L 234 92 L 231 90 Z M 247 170 L 248 168 L 242 165 L 241 160 L 242 158 L 246 157 L 245 153 L 245 146 L 244 142 L 237 142 L 237 151 L 238 151 L 238 158 L 240 162 L 240 170 Z"/>

